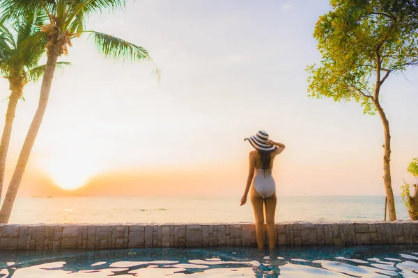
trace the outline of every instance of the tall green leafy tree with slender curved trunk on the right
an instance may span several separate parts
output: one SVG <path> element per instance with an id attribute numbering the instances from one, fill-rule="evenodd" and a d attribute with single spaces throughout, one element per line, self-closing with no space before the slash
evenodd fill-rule
<path id="1" fill-rule="evenodd" d="M 418 1 L 332 0 L 331 4 L 332 10 L 315 26 L 322 60 L 307 67 L 308 91 L 311 97 L 356 101 L 364 113 L 378 113 L 385 134 L 383 181 L 389 220 L 396 220 L 391 135 L 380 89 L 391 74 L 418 65 Z"/>

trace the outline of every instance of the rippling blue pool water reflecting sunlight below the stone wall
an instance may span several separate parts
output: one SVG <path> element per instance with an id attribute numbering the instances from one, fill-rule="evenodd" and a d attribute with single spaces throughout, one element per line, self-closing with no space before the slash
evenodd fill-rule
<path id="1" fill-rule="evenodd" d="M 418 246 L 0 252 L 0 277 L 418 277 Z"/>

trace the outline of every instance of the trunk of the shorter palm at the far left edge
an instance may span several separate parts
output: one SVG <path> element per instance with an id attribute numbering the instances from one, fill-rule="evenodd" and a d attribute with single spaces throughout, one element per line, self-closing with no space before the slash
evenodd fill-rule
<path id="1" fill-rule="evenodd" d="M 9 102 L 6 112 L 6 122 L 3 128 L 3 134 L 1 135 L 0 142 L 0 203 L 1 193 L 3 190 L 4 172 L 6 171 L 6 158 L 8 147 L 10 145 L 10 137 L 12 136 L 13 120 L 15 120 L 17 101 L 22 96 L 24 79 L 9 77 L 10 91 L 12 92 L 9 97 Z"/>

